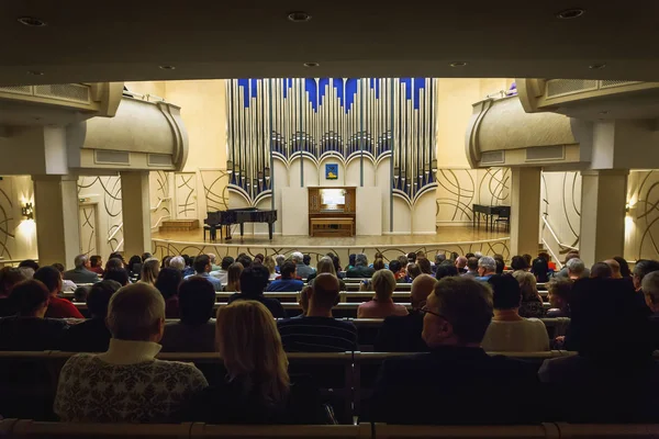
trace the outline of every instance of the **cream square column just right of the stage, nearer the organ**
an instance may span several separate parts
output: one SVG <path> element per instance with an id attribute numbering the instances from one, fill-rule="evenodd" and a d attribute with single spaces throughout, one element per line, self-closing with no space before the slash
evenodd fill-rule
<path id="1" fill-rule="evenodd" d="M 511 169 L 511 257 L 538 252 L 540 172 L 541 168 Z"/>

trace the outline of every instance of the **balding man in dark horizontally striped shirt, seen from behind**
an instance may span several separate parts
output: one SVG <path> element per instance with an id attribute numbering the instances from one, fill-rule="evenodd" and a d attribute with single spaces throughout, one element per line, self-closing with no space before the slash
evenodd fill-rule
<path id="1" fill-rule="evenodd" d="M 338 279 L 321 273 L 313 281 L 306 315 L 277 325 L 287 352 L 345 352 L 357 349 L 357 328 L 337 320 L 332 308 L 338 303 Z"/>

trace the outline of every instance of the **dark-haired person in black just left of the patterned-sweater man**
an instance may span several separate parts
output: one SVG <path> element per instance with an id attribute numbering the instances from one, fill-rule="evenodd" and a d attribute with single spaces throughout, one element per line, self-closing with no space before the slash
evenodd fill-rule
<path id="1" fill-rule="evenodd" d="M 105 324 L 110 299 L 119 291 L 119 282 L 102 280 L 89 289 L 87 309 L 91 318 L 74 325 L 64 334 L 62 350 L 68 352 L 104 352 L 110 346 L 110 329 Z"/>

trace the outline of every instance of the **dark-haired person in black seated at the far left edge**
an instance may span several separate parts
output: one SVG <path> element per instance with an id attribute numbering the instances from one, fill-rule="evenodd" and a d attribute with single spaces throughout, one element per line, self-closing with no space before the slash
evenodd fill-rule
<path id="1" fill-rule="evenodd" d="M 57 350 L 67 328 L 63 319 L 44 318 L 49 292 L 38 280 L 14 285 L 11 300 L 15 315 L 0 318 L 0 350 Z"/>

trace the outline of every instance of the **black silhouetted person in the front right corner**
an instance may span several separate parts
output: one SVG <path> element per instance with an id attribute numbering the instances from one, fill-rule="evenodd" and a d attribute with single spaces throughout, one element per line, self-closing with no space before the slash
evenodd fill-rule
<path id="1" fill-rule="evenodd" d="M 546 360 L 538 372 L 560 402 L 549 404 L 554 418 L 573 424 L 659 420 L 659 364 L 652 359 L 649 311 L 633 292 L 624 280 L 574 282 L 566 346 L 579 354 Z"/>

